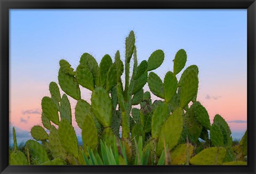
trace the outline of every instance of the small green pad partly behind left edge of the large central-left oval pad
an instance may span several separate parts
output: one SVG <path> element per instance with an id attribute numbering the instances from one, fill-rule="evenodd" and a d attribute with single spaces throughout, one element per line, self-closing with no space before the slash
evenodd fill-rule
<path id="1" fill-rule="evenodd" d="M 85 100 L 78 100 L 75 107 L 75 118 L 77 125 L 82 129 L 84 118 L 87 113 L 91 110 L 91 105 L 87 103 Z"/>

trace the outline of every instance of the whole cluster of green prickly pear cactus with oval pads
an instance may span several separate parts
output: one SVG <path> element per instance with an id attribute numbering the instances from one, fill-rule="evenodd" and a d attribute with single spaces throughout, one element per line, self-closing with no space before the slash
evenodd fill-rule
<path id="1" fill-rule="evenodd" d="M 84 53 L 76 69 L 61 59 L 58 84 L 50 83 L 51 96 L 41 102 L 43 127 L 31 128 L 35 140 L 27 141 L 22 150 L 17 149 L 13 128 L 9 163 L 246 165 L 247 132 L 234 146 L 225 119 L 216 115 L 211 125 L 207 110 L 197 101 L 198 67 L 188 66 L 177 79 L 187 62 L 185 50 L 178 50 L 173 72 L 163 80 L 152 72 L 164 56 L 158 49 L 138 64 L 131 31 L 125 40 L 124 63 L 119 51 L 114 59 L 106 54 L 99 64 Z M 146 83 L 151 93 L 143 90 Z M 65 92 L 62 97 L 59 86 Z M 92 91 L 90 101 L 81 98 L 80 88 Z M 151 94 L 159 100 L 152 101 Z M 82 129 L 82 146 L 73 127 L 69 97 L 77 101 L 75 121 Z"/>

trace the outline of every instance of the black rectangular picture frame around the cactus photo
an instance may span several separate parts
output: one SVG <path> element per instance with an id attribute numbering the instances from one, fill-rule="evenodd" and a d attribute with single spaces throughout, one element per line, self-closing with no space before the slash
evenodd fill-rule
<path id="1" fill-rule="evenodd" d="M 9 166 L 9 10 L 22 8 L 247 9 L 247 166 Z M 255 173 L 255 0 L 0 0 L 0 173 Z"/>

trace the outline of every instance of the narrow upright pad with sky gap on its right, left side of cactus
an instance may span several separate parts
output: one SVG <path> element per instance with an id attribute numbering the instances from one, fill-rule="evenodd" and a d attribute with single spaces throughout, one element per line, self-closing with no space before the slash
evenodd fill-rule
<path id="1" fill-rule="evenodd" d="M 71 107 L 66 94 L 62 95 L 62 98 L 60 101 L 60 118 L 67 119 L 68 122 L 72 124 Z"/>

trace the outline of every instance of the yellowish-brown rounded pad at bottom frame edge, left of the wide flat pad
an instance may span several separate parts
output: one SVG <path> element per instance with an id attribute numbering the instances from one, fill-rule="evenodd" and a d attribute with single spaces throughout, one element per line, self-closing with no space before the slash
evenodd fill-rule
<path id="1" fill-rule="evenodd" d="M 194 152 L 194 146 L 190 143 L 179 144 L 171 152 L 171 165 L 184 165 L 191 158 Z M 188 161 L 187 161 L 188 160 Z"/>

